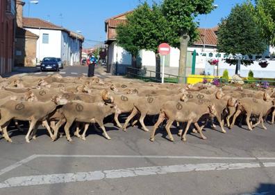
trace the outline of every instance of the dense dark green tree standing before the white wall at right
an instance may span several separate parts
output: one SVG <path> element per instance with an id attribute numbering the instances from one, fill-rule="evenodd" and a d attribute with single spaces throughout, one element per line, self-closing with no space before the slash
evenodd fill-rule
<path id="1" fill-rule="evenodd" d="M 219 52 L 231 53 L 233 55 L 263 53 L 266 44 L 260 35 L 260 28 L 256 24 L 254 12 L 255 8 L 251 1 L 247 1 L 246 3 L 236 5 L 232 8 L 230 15 L 222 19 L 222 22 L 219 24 L 217 38 Z M 236 75 L 240 69 L 239 66 L 240 64 L 236 66 Z"/>

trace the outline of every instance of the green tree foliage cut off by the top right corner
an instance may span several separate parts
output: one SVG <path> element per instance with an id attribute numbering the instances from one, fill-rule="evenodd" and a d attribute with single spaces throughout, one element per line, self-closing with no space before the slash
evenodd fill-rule
<path id="1" fill-rule="evenodd" d="M 275 1 L 257 0 L 256 18 L 260 32 L 271 46 L 275 46 Z"/>

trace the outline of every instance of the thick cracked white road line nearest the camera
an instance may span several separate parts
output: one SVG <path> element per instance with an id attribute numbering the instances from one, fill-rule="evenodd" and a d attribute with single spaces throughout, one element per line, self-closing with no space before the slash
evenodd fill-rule
<path id="1" fill-rule="evenodd" d="M 219 171 L 260 167 L 265 167 L 265 165 L 260 165 L 260 163 L 203 163 L 156 167 L 133 167 L 128 169 L 88 171 L 67 174 L 48 174 L 40 176 L 21 176 L 8 178 L 3 183 L 0 183 L 0 188 L 45 185 L 55 183 L 72 183 L 113 178 L 128 178 L 135 176 L 183 173 L 189 171 Z"/>

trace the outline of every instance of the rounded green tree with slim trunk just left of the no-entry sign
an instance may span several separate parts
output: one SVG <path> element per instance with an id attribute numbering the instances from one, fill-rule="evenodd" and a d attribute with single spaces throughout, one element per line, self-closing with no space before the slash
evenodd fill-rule
<path id="1" fill-rule="evenodd" d="M 117 43 L 136 55 L 138 50 L 151 50 L 156 55 L 156 79 L 160 80 L 160 55 L 158 46 L 168 41 L 169 26 L 160 6 L 142 3 L 130 15 L 127 23 L 117 29 Z"/>

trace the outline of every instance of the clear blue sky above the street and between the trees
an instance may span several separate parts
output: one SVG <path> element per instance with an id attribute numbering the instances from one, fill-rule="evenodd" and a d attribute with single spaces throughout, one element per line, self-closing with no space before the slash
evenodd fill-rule
<path id="1" fill-rule="evenodd" d="M 84 47 L 91 47 L 106 40 L 104 21 L 120 13 L 136 8 L 144 0 L 39 0 L 38 4 L 23 0 L 24 17 L 37 17 L 63 26 L 85 37 Z M 161 2 L 161 0 L 155 0 Z M 215 0 L 218 8 L 208 15 L 200 15 L 201 28 L 217 26 L 236 3 L 246 0 Z M 147 0 L 150 4 L 153 0 Z"/>

